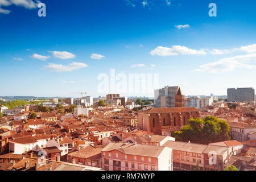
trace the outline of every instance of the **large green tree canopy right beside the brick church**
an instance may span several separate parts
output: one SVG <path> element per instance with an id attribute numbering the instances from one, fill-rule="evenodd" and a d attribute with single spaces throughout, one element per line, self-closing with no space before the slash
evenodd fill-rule
<path id="1" fill-rule="evenodd" d="M 188 120 L 188 125 L 181 128 L 181 131 L 175 131 L 172 137 L 176 140 L 192 143 L 213 143 L 230 140 L 230 127 L 228 122 L 213 116 L 207 116 L 204 119 Z"/>

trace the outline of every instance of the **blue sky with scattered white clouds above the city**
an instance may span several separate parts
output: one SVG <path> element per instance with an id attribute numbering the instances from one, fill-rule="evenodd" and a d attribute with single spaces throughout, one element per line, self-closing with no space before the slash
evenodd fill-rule
<path id="1" fill-rule="evenodd" d="M 41 2 L 46 17 L 36 1 L 0 0 L 0 96 L 104 96 L 97 77 L 112 68 L 158 73 L 185 95 L 256 88 L 253 0 Z"/>

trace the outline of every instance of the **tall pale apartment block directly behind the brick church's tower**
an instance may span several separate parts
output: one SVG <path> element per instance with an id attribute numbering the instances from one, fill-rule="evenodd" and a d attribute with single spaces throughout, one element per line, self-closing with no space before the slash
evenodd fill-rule
<path id="1" fill-rule="evenodd" d="M 175 107 L 175 95 L 179 86 L 166 86 L 155 90 L 155 107 Z"/>

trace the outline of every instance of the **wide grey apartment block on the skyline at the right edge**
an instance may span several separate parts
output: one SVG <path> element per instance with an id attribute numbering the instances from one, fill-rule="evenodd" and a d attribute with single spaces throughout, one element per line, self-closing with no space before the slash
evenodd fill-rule
<path id="1" fill-rule="evenodd" d="M 229 88 L 228 102 L 249 102 L 255 101 L 255 91 L 253 88 Z"/>

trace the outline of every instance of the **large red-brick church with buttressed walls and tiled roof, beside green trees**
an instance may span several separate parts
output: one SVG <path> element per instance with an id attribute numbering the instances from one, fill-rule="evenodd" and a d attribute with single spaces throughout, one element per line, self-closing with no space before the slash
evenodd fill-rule
<path id="1" fill-rule="evenodd" d="M 182 102 L 182 97 L 179 99 Z M 170 136 L 172 132 L 187 125 L 188 119 L 198 117 L 200 113 L 195 107 L 152 107 L 138 113 L 138 127 L 151 133 Z"/>

